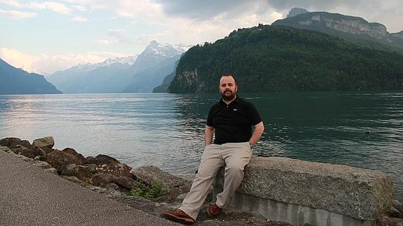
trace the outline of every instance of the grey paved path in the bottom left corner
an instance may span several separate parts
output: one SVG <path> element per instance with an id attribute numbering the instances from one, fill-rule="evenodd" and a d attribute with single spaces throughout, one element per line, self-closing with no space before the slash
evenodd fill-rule
<path id="1" fill-rule="evenodd" d="M 0 225 L 177 225 L 0 151 Z"/>

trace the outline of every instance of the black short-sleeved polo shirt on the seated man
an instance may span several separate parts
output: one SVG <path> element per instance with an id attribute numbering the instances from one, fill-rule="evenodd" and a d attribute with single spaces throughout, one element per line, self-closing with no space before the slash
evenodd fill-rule
<path id="1" fill-rule="evenodd" d="M 207 126 L 214 127 L 214 143 L 240 143 L 249 141 L 252 126 L 261 122 L 257 109 L 249 101 L 236 97 L 229 105 L 221 99 L 207 116 Z"/>

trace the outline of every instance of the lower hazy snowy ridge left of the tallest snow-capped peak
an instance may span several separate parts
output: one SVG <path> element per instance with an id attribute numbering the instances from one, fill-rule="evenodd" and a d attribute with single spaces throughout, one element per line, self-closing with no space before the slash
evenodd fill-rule
<path id="1" fill-rule="evenodd" d="M 106 59 L 98 64 L 78 64 L 56 71 L 48 80 L 66 93 L 121 92 L 132 79 L 137 56 Z"/>

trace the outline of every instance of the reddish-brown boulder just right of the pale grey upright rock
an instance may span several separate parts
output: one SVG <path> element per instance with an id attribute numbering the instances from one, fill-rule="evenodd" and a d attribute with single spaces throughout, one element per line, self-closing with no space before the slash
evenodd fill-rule
<path id="1" fill-rule="evenodd" d="M 46 162 L 57 169 L 59 174 L 62 174 L 62 171 L 68 164 L 83 164 L 83 161 L 78 159 L 78 157 L 61 150 L 53 150 L 53 152 L 46 155 Z"/>

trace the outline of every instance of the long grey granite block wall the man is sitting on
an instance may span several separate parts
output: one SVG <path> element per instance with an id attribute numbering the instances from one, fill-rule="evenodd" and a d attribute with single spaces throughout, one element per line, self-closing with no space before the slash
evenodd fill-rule
<path id="1" fill-rule="evenodd" d="M 221 169 L 214 197 L 223 184 Z M 301 225 L 371 225 L 390 209 L 392 197 L 392 178 L 379 171 L 285 157 L 252 157 L 227 211 L 259 213 Z"/>

